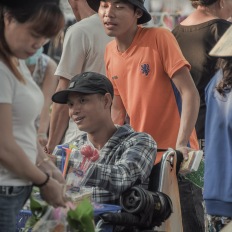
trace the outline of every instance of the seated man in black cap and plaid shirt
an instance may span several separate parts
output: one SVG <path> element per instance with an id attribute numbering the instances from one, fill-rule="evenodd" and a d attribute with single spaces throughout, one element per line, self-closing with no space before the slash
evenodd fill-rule
<path id="1" fill-rule="evenodd" d="M 86 132 L 75 145 L 90 144 L 99 151 L 99 161 L 86 183 L 94 187 L 97 203 L 119 204 L 124 191 L 146 185 L 156 157 L 156 142 L 150 135 L 135 132 L 129 125 L 114 125 L 113 96 L 113 86 L 105 76 L 85 72 L 52 97 L 54 102 L 68 105 L 69 116 Z"/>

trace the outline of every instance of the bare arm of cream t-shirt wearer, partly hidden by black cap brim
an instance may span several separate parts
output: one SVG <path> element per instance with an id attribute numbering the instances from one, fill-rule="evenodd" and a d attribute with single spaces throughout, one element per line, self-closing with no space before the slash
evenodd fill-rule
<path id="1" fill-rule="evenodd" d="M 64 77 L 60 77 L 56 92 L 67 89 L 68 85 L 69 80 Z M 66 104 L 53 103 L 50 119 L 49 137 L 48 143 L 46 145 L 46 151 L 48 153 L 52 153 L 55 146 L 61 143 L 61 140 L 68 127 L 68 122 L 68 106 Z"/>

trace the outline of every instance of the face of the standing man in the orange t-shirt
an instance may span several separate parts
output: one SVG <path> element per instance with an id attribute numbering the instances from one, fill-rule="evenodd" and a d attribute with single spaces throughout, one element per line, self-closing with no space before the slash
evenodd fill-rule
<path id="1" fill-rule="evenodd" d="M 109 36 L 123 39 L 134 33 L 134 28 L 137 27 L 137 11 L 126 1 L 101 1 L 98 14 Z"/>

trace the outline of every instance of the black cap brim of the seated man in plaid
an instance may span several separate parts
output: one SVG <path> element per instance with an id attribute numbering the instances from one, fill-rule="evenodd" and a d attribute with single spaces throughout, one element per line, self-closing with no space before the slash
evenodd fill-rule
<path id="1" fill-rule="evenodd" d="M 70 93 L 84 93 L 84 94 L 96 94 L 99 93 L 97 91 L 91 91 L 91 90 L 83 90 L 83 89 L 67 89 L 67 90 L 61 90 L 52 96 L 52 101 L 59 104 L 67 104 L 68 102 L 68 96 Z"/>

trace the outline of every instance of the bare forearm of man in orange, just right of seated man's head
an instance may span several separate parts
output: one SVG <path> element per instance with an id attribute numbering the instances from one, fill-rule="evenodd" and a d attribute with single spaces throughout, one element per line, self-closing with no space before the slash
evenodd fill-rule
<path id="1" fill-rule="evenodd" d="M 123 125 L 126 117 L 126 109 L 120 96 L 114 96 L 111 117 L 115 124 Z"/>

